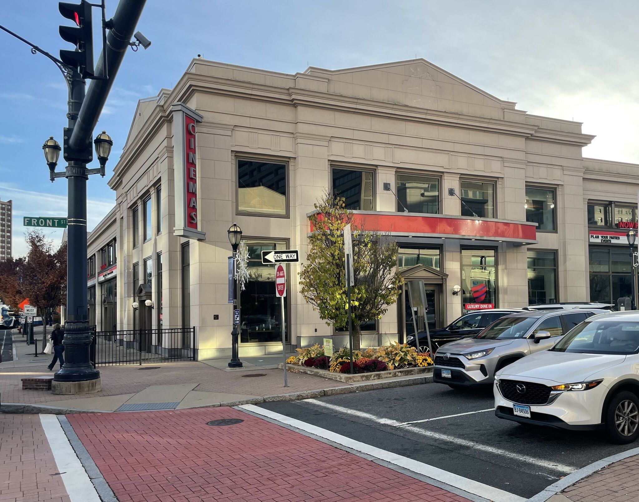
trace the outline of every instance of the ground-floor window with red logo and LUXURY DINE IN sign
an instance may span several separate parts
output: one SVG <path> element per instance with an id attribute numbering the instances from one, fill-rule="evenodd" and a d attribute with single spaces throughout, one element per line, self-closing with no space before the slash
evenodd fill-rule
<path id="1" fill-rule="evenodd" d="M 465 310 L 495 307 L 497 252 L 494 249 L 461 250 L 461 284 Z"/>

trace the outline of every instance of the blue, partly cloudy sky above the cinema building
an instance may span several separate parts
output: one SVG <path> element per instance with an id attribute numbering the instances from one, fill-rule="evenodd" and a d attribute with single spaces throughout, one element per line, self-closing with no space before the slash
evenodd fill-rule
<path id="1" fill-rule="evenodd" d="M 108 17 L 116 5 L 107 0 Z M 424 57 L 518 109 L 584 122 L 597 135 L 585 156 L 639 163 L 636 19 L 639 3 L 622 0 L 148 0 L 138 29 L 152 45 L 127 52 L 95 131 L 114 146 L 107 178 L 89 179 L 89 229 L 114 203 L 106 183 L 137 100 L 172 87 L 197 54 L 286 73 Z M 65 23 L 53 0 L 6 3 L 0 19 L 55 56 L 70 48 Z M 66 216 L 66 181 L 50 183 L 42 154 L 50 135 L 61 142 L 66 88 L 48 59 L 2 31 L 0 68 L 0 198 L 14 201 L 20 255 L 22 216 Z"/>

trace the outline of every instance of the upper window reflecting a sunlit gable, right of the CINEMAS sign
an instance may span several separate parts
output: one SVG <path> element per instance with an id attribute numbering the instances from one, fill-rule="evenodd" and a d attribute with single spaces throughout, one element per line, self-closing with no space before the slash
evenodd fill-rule
<path id="1" fill-rule="evenodd" d="M 249 215 L 286 216 L 288 165 L 238 158 L 237 212 Z"/>

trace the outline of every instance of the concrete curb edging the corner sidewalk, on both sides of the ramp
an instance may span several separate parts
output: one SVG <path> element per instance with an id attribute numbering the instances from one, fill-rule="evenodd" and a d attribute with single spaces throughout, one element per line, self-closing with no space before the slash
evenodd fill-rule
<path id="1" fill-rule="evenodd" d="M 217 406 L 240 406 L 240 404 L 261 404 L 263 402 L 275 401 L 296 401 L 300 399 L 311 399 L 314 397 L 332 396 L 337 394 L 350 394 L 352 392 L 366 392 L 367 390 L 390 389 L 396 387 L 405 387 L 408 385 L 420 385 L 431 383 L 433 375 L 427 374 L 417 377 L 398 378 L 390 381 L 373 381 L 364 383 L 355 383 L 343 387 L 333 387 L 328 389 L 304 390 L 302 392 L 290 392 L 286 394 L 275 394 L 263 397 L 252 397 L 238 401 L 224 401 L 215 404 L 205 404 L 203 406 L 192 406 L 193 408 L 212 408 Z M 190 409 L 179 408 L 179 409 Z M 22 403 L 2 403 L 0 404 L 1 413 L 50 413 L 52 415 L 68 415 L 70 413 L 115 413 L 103 409 L 69 409 L 55 406 L 46 406 L 45 404 L 22 404 Z"/>

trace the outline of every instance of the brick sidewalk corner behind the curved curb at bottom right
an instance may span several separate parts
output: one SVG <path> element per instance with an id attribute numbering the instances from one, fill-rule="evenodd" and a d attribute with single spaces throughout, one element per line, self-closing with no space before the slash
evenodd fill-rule
<path id="1" fill-rule="evenodd" d="M 573 502 L 627 502 L 639 500 L 639 455 L 619 460 L 574 483 L 562 492 Z"/>

